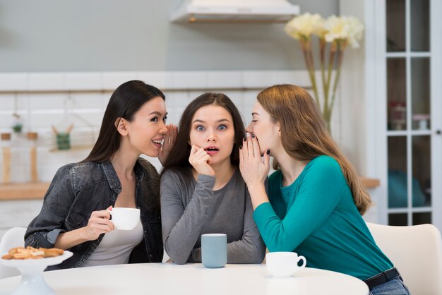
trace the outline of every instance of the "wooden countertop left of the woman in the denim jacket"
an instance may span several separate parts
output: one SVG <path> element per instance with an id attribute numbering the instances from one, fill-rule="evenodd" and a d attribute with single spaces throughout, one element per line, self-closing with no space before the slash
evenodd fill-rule
<path id="1" fill-rule="evenodd" d="M 42 199 L 49 188 L 48 182 L 0 184 L 0 200 Z"/>

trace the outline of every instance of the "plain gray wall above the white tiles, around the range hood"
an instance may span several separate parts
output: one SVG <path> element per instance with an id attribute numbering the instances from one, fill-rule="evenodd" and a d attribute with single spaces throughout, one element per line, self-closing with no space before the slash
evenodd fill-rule
<path id="1" fill-rule="evenodd" d="M 181 1 L 0 0 L 0 72 L 304 68 L 283 25 L 169 23 Z M 338 13 L 338 0 L 289 1 Z"/>

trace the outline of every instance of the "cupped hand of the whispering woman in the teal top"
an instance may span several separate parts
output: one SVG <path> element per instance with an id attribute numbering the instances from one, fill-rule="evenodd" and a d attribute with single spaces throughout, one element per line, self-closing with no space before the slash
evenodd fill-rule
<path id="1" fill-rule="evenodd" d="M 247 133 L 242 148 L 239 149 L 239 170 L 249 189 L 264 183 L 270 170 L 270 155 L 268 150 L 261 158 L 258 139 Z"/>

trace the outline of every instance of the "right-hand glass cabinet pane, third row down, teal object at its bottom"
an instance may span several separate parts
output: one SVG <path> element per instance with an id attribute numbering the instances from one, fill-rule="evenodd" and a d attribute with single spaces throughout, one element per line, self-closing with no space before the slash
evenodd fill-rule
<path id="1" fill-rule="evenodd" d="M 431 138 L 412 137 L 413 207 L 431 206 Z"/>

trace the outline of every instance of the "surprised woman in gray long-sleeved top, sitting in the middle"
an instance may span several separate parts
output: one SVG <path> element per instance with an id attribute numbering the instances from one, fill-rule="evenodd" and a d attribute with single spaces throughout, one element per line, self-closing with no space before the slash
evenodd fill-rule
<path id="1" fill-rule="evenodd" d="M 227 234 L 227 263 L 261 263 L 265 246 L 239 173 L 244 124 L 222 93 L 184 110 L 161 176 L 162 235 L 174 263 L 201 262 L 201 234 Z"/>

